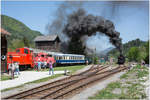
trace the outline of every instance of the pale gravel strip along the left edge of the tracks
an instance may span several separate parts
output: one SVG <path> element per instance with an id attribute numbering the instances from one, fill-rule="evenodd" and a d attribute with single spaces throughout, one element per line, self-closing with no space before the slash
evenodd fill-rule
<path id="1" fill-rule="evenodd" d="M 75 73 L 83 72 L 83 71 L 89 69 L 90 67 L 91 67 L 91 65 L 88 65 L 88 66 L 84 67 L 83 69 L 78 70 Z M 25 90 L 28 90 L 28 89 L 31 89 L 31 88 L 34 88 L 34 87 L 38 87 L 40 85 L 44 85 L 46 83 L 53 82 L 53 81 L 56 81 L 56 80 L 59 80 L 59 79 L 65 78 L 65 77 L 68 77 L 68 76 L 57 77 L 55 79 L 51 79 L 49 81 L 41 82 L 41 83 L 38 83 L 38 84 L 36 84 L 36 83 L 25 84 L 24 86 L 22 86 L 20 88 L 14 88 L 14 89 L 11 89 L 11 90 L 8 90 L 8 91 L 1 92 L 1 97 L 3 98 L 3 97 L 6 97 L 6 96 L 9 96 L 9 95 L 13 95 L 13 94 L 16 94 L 18 92 L 25 91 Z"/>

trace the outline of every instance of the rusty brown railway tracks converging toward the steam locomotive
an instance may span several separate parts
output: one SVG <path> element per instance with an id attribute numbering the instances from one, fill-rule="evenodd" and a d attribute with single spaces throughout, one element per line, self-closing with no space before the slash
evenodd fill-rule
<path id="1" fill-rule="evenodd" d="M 88 86 L 96 81 L 109 77 L 125 67 L 117 67 L 108 70 L 108 67 L 92 66 L 89 70 L 82 73 L 72 75 L 70 77 L 54 81 L 40 87 L 36 87 L 18 94 L 5 97 L 3 99 L 60 99 L 65 98 L 68 93 L 78 90 L 79 88 Z"/>

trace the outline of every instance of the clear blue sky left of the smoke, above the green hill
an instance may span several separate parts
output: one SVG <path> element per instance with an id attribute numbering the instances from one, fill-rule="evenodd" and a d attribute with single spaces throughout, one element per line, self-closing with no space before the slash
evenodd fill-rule
<path id="1" fill-rule="evenodd" d="M 45 33 L 45 25 L 52 20 L 56 2 L 2 2 L 2 14 L 11 16 L 33 30 Z"/>

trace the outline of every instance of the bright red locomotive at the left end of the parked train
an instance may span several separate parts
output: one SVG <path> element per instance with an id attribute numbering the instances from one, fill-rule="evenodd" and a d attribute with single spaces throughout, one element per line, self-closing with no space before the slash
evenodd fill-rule
<path id="1" fill-rule="evenodd" d="M 38 61 L 45 62 L 48 60 L 48 54 L 46 53 L 37 53 L 35 54 L 29 48 L 17 48 L 15 52 L 7 53 L 7 69 L 8 64 L 13 62 L 19 62 L 20 68 L 31 67 L 34 68 L 35 63 Z"/>

